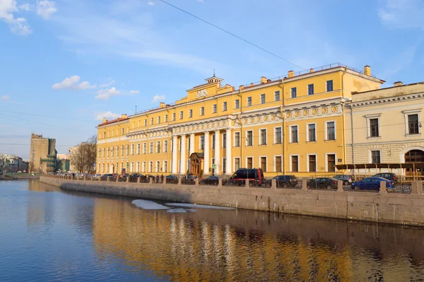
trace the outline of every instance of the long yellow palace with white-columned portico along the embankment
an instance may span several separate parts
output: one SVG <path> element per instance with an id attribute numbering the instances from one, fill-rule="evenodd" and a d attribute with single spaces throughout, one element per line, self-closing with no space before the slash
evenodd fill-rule
<path id="1" fill-rule="evenodd" d="M 98 173 L 232 175 L 262 168 L 266 177 L 334 175 L 345 163 L 343 105 L 352 92 L 384 81 L 343 64 L 226 84 L 215 74 L 173 105 L 108 121 L 98 129 Z"/>

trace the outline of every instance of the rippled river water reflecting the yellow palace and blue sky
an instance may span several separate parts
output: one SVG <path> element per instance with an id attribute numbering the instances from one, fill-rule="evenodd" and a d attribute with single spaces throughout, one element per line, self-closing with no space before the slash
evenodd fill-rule
<path id="1" fill-rule="evenodd" d="M 0 281 L 424 281 L 420 228 L 133 201 L 1 181 Z"/>

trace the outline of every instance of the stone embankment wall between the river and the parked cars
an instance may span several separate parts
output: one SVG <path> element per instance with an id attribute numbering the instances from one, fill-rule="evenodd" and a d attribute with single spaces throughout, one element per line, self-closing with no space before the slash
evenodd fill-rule
<path id="1" fill-rule="evenodd" d="M 411 194 L 336 190 L 276 189 L 273 187 L 221 187 L 184 184 L 153 184 L 67 180 L 58 176 L 40 181 L 62 189 L 132 196 L 143 199 L 177 201 L 213 206 L 230 206 L 257 211 L 293 213 L 307 216 L 424 226 L 423 182 L 414 182 Z"/>

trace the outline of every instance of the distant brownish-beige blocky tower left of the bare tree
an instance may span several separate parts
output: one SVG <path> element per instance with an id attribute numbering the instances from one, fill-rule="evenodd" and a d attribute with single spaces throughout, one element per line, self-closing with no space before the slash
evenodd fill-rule
<path id="1" fill-rule="evenodd" d="M 56 139 L 31 134 L 30 172 L 54 172 L 56 158 Z"/>

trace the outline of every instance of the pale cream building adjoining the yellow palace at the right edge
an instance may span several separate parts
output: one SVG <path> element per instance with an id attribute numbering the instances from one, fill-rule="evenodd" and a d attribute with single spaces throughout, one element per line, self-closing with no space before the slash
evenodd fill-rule
<path id="1" fill-rule="evenodd" d="M 354 92 L 345 110 L 346 163 L 424 163 L 423 107 L 424 82 Z M 424 175 L 420 166 L 416 175 Z M 413 175 L 411 169 L 393 172 Z"/>

